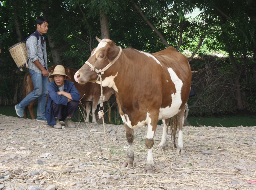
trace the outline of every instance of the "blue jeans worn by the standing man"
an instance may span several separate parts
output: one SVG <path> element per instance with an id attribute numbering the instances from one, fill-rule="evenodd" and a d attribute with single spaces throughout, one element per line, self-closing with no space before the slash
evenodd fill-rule
<path id="1" fill-rule="evenodd" d="M 47 84 L 49 79 L 47 76 L 43 76 L 42 74 L 31 69 L 29 69 L 29 74 L 31 75 L 31 79 L 33 81 L 34 90 L 30 92 L 23 100 L 21 100 L 19 106 L 24 109 L 26 106 L 28 106 L 28 104 L 30 104 L 30 102 L 38 98 L 37 116 L 44 116 L 48 94 Z"/>

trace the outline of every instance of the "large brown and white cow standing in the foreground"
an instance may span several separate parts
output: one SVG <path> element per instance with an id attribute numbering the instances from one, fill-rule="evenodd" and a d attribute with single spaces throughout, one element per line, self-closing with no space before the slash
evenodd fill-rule
<path id="1" fill-rule="evenodd" d="M 98 47 L 76 72 L 75 80 L 82 84 L 100 83 L 98 75 L 101 75 L 102 85 L 116 91 L 128 141 L 122 167 L 133 166 L 133 129 L 148 124 L 145 138 L 148 157 L 143 174 L 154 173 L 152 147 L 159 119 L 163 120 L 163 137 L 158 150 L 162 151 L 167 146 L 169 118 L 177 115 L 177 153 L 184 153 L 182 125 L 192 77 L 188 60 L 173 47 L 151 54 L 132 48 L 121 49 L 110 39 L 96 39 L 100 42 Z M 108 68 L 109 63 L 113 65 Z M 97 75 L 95 71 L 100 73 Z"/>

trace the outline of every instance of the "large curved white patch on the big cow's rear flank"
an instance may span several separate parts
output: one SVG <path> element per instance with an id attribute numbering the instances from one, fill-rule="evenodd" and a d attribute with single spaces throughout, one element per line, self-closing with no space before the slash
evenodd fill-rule
<path id="1" fill-rule="evenodd" d="M 168 72 L 170 73 L 171 80 L 174 83 L 176 93 L 172 94 L 172 105 L 171 107 L 160 107 L 158 119 L 168 119 L 174 115 L 176 115 L 180 111 L 180 105 L 182 104 L 181 100 L 181 88 L 183 86 L 183 82 L 179 79 L 176 73 L 172 70 L 172 68 L 168 68 Z"/>

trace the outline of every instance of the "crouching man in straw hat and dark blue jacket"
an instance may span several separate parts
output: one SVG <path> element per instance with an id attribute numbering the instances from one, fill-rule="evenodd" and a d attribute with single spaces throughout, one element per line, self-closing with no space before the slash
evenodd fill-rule
<path id="1" fill-rule="evenodd" d="M 80 94 L 73 82 L 67 81 L 70 78 L 66 75 L 65 68 L 57 65 L 48 78 L 54 81 L 48 83 L 49 98 L 46 107 L 45 117 L 48 125 L 61 129 L 60 121 L 64 121 L 70 128 L 76 125 L 71 121 L 80 103 Z"/>

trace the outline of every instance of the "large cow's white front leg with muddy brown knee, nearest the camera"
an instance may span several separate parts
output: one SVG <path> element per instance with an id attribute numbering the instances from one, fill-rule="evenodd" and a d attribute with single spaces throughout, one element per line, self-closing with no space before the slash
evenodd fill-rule
<path id="1" fill-rule="evenodd" d="M 152 115 L 156 115 L 156 114 L 152 114 Z M 153 170 L 154 160 L 153 160 L 153 155 L 152 155 L 152 149 L 154 146 L 154 135 L 156 132 L 157 122 L 158 122 L 158 118 L 155 118 L 155 119 L 149 118 L 148 132 L 147 132 L 147 136 L 145 139 L 145 145 L 148 149 L 148 157 L 147 157 L 147 162 L 146 162 L 146 166 L 144 168 L 143 174 L 153 174 L 154 173 L 154 170 Z"/>

